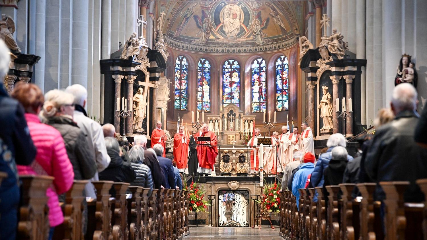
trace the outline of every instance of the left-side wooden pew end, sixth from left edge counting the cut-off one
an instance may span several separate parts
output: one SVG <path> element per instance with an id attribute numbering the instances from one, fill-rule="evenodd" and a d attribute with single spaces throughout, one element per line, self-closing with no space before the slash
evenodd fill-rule
<path id="1" fill-rule="evenodd" d="M 145 209 L 141 206 L 141 193 L 144 188 L 130 186 L 129 191 L 132 197 L 128 200 L 128 223 L 129 223 L 129 240 L 144 239 L 142 229 L 142 211 Z"/>

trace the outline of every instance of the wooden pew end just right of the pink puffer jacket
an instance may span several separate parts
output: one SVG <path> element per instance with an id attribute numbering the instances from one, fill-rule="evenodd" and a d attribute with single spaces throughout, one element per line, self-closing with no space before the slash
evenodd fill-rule
<path id="1" fill-rule="evenodd" d="M 87 216 L 83 215 L 83 202 L 85 201 L 85 185 L 88 182 L 87 180 L 74 180 L 71 189 L 65 193 L 65 202 L 61 205 L 64 222 L 55 227 L 54 240 L 84 239 L 83 225 L 87 224 L 85 223 Z"/>

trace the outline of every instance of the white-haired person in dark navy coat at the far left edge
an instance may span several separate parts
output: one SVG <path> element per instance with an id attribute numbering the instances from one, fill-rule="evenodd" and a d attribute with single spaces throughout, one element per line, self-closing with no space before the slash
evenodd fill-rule
<path id="1" fill-rule="evenodd" d="M 10 52 L 0 40 L 0 77 L 9 70 Z M 10 98 L 0 81 L 0 236 L 15 239 L 18 224 L 19 185 L 16 165 L 30 165 L 37 153 L 29 135 L 21 104 Z"/>

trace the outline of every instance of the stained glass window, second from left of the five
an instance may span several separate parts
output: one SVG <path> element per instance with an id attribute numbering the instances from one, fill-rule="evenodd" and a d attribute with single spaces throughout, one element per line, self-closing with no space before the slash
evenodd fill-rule
<path id="1" fill-rule="evenodd" d="M 211 111 L 211 64 L 205 58 L 199 59 L 197 67 L 197 110 Z"/>

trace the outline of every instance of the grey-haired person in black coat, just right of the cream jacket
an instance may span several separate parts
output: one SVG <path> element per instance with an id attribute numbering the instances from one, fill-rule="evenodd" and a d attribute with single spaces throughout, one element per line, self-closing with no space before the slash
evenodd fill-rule
<path id="1" fill-rule="evenodd" d="M 136 178 L 135 171 L 130 162 L 123 161 L 119 142 L 113 137 L 106 137 L 105 147 L 111 162 L 104 171 L 99 173 L 99 180 L 133 182 Z"/>

